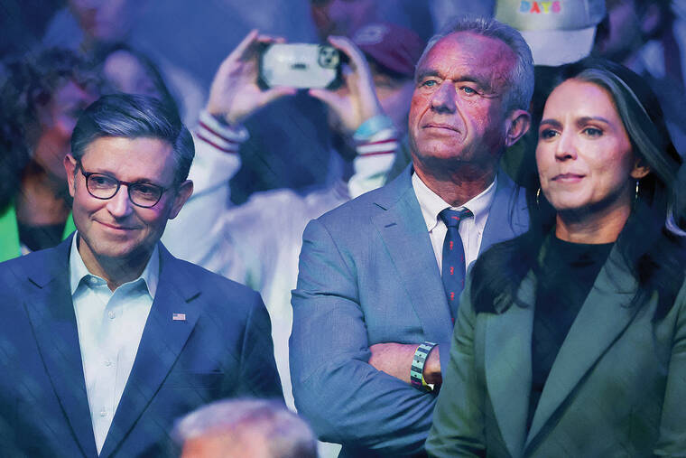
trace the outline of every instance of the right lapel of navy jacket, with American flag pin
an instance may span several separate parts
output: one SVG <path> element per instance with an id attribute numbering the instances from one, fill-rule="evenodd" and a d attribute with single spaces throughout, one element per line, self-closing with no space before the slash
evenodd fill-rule
<path id="1" fill-rule="evenodd" d="M 116 453 L 134 428 L 179 357 L 201 313 L 195 301 L 199 288 L 194 285 L 190 271 L 162 244 L 159 247 L 160 282 L 157 293 L 101 457 Z M 185 319 L 173 320 L 174 313 L 183 314 Z"/>

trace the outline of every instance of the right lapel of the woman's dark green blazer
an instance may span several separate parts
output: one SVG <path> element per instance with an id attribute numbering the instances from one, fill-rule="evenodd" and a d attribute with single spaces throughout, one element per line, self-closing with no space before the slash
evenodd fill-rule
<path id="1" fill-rule="evenodd" d="M 546 422 L 633 320 L 639 307 L 627 305 L 636 287 L 621 253 L 613 248 L 552 364 L 526 446 L 542 434 Z"/>

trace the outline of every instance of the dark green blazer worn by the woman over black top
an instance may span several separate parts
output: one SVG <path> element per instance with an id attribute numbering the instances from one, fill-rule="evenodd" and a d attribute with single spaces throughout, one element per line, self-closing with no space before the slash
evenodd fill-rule
<path id="1" fill-rule="evenodd" d="M 670 313 L 652 322 L 656 295 L 628 306 L 637 284 L 613 248 L 562 343 L 527 432 L 535 282 L 529 272 L 519 287 L 526 307 L 513 304 L 503 313 L 475 313 L 468 282 L 429 454 L 686 456 L 686 286 Z"/>

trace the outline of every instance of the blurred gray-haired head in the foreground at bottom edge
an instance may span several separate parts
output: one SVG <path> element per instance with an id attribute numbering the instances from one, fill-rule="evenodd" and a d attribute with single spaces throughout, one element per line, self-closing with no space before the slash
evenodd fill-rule
<path id="1" fill-rule="evenodd" d="M 264 399 L 216 401 L 177 421 L 181 458 L 317 458 L 310 426 L 283 404 Z"/>

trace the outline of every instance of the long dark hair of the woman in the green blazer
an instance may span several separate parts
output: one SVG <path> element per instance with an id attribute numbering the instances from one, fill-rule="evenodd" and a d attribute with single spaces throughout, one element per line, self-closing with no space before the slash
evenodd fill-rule
<path id="1" fill-rule="evenodd" d="M 640 192 L 616 248 L 638 281 L 632 306 L 644 304 L 657 292 L 659 303 L 654 318 L 659 319 L 671 308 L 684 279 L 684 238 L 665 226 L 668 209 L 674 202 L 683 201 L 686 191 L 677 184 L 681 156 L 672 145 L 654 92 L 633 71 L 614 62 L 589 59 L 565 67 L 558 85 L 566 79 L 579 79 L 607 90 L 635 156 L 650 167 L 650 173 L 640 180 Z M 537 180 L 526 195 L 529 231 L 491 248 L 474 266 L 471 298 L 477 311 L 501 312 L 495 305 L 496 298 L 506 294 L 512 300 L 498 304 L 514 303 L 516 288 L 526 273 L 533 269 L 536 274 L 539 269 L 538 254 L 555 225 L 556 211 L 540 192 Z"/>

